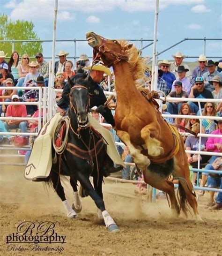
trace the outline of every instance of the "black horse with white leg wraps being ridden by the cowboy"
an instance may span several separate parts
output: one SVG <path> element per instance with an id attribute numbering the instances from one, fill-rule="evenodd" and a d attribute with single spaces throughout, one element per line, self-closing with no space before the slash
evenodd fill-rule
<path id="1" fill-rule="evenodd" d="M 102 193 L 104 174 L 104 161 L 106 147 L 103 138 L 94 130 L 88 120 L 90 83 L 87 80 L 77 80 L 75 83 L 68 79 L 71 88 L 70 109 L 68 117 L 68 139 L 65 151 L 57 156 L 57 162 L 52 165 L 50 179 L 53 188 L 62 200 L 69 218 L 75 218 L 81 211 L 81 199 L 77 190 L 77 181 L 83 188 L 81 196 L 89 195 L 98 208 L 98 217 L 104 218 L 105 225 L 110 232 L 118 232 L 118 226 L 105 210 Z M 54 157 L 53 149 L 53 157 Z M 61 185 L 59 174 L 70 176 L 70 184 L 74 190 L 74 204 L 68 203 L 64 189 Z M 93 176 L 93 185 L 89 181 Z"/>

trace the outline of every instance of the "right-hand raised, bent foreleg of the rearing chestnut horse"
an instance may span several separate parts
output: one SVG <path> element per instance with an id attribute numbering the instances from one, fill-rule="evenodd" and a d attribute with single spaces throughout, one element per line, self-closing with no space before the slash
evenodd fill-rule
<path id="1" fill-rule="evenodd" d="M 159 130 L 156 124 L 148 124 L 141 129 L 141 138 L 145 141 L 148 154 L 153 157 L 157 157 L 164 153 L 161 142 L 156 139 L 159 136 Z"/>

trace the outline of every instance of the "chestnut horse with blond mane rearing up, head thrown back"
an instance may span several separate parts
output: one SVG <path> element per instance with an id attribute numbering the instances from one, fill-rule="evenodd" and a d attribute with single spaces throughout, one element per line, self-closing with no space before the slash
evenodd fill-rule
<path id="1" fill-rule="evenodd" d="M 135 164 L 143 171 L 144 181 L 170 196 L 174 215 L 178 216 L 182 210 L 187 216 L 190 205 L 196 220 L 202 221 L 190 181 L 182 136 L 162 118 L 155 108 L 154 99 L 147 100 L 138 90 L 137 85 L 145 76 L 146 60 L 128 41 L 106 39 L 94 32 L 88 32 L 86 38 L 94 49 L 94 59 L 102 59 L 107 67 L 113 67 L 117 135 L 128 146 Z M 169 180 L 170 174 L 178 180 L 178 201 L 174 183 Z"/>

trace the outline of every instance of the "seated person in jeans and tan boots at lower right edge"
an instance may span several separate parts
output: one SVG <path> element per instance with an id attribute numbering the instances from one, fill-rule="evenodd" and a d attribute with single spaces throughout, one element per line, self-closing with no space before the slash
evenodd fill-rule
<path id="1" fill-rule="evenodd" d="M 222 157 L 216 158 L 212 165 L 208 164 L 205 167 L 206 170 L 222 170 Z M 207 177 L 207 187 L 208 188 L 218 188 L 221 185 L 221 177 L 219 175 L 209 173 Z M 210 198 L 207 203 L 207 207 L 211 207 L 215 205 L 215 192 L 209 191 Z M 221 207 L 222 208 L 222 207 Z"/>

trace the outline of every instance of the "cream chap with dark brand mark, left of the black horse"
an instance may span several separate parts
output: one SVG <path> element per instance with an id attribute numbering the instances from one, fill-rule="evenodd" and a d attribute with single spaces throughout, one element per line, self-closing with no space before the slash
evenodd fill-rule
<path id="1" fill-rule="evenodd" d="M 49 176 L 52 168 L 52 137 L 61 118 L 59 113 L 55 114 L 40 130 L 25 168 L 24 177 L 27 180 L 35 181 Z"/>

